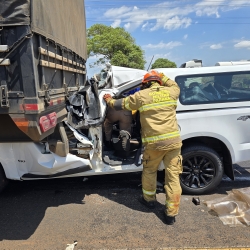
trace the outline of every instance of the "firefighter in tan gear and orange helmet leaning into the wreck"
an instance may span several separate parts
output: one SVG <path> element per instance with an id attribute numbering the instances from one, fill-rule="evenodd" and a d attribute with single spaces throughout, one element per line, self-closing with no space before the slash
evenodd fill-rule
<path id="1" fill-rule="evenodd" d="M 149 208 L 156 203 L 157 170 L 161 161 L 165 166 L 166 209 L 165 222 L 172 225 L 179 211 L 182 173 L 182 141 L 176 120 L 176 106 L 180 89 L 175 81 L 157 71 L 144 75 L 141 90 L 123 99 L 110 94 L 103 99 L 116 110 L 140 112 L 141 137 L 144 145 L 142 196 L 139 201 Z"/>

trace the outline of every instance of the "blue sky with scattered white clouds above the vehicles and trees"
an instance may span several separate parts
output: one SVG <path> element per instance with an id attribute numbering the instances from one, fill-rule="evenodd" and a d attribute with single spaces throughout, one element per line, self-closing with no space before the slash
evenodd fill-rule
<path id="1" fill-rule="evenodd" d="M 85 0 L 87 28 L 96 23 L 123 27 L 145 51 L 177 64 L 202 59 L 250 60 L 250 0 Z M 88 64 L 88 75 L 98 72 Z"/>

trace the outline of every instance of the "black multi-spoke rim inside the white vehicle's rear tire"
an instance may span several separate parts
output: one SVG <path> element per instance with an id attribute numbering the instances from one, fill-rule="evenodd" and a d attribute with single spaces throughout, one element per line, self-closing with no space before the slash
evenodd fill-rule
<path id="1" fill-rule="evenodd" d="M 202 154 L 193 154 L 183 161 L 181 182 L 188 188 L 199 189 L 208 186 L 216 175 L 216 165 Z"/>

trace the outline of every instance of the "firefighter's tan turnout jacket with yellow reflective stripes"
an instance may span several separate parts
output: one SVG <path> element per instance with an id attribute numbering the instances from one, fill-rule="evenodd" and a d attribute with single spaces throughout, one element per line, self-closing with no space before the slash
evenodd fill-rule
<path id="1" fill-rule="evenodd" d="M 142 143 L 147 149 L 152 150 L 165 150 L 173 144 L 181 146 L 176 119 L 180 89 L 175 81 L 164 75 L 162 80 L 163 86 L 153 82 L 150 88 L 140 90 L 123 99 L 111 99 L 108 103 L 116 110 L 140 112 Z"/>

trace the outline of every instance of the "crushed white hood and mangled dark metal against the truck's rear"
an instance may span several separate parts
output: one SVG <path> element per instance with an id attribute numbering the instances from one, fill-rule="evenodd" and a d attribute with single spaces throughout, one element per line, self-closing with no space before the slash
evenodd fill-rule
<path id="1" fill-rule="evenodd" d="M 99 126 L 104 122 L 106 104 L 102 96 L 119 95 L 128 85 L 140 84 L 146 70 L 108 66 L 95 74 L 85 87 L 69 97 L 68 123 L 75 129 Z"/>

